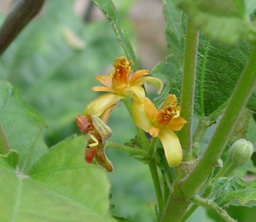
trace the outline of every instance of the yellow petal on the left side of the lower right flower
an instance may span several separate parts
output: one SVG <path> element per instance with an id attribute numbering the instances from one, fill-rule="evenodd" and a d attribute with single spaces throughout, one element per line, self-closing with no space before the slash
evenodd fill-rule
<path id="1" fill-rule="evenodd" d="M 144 106 L 141 102 L 134 100 L 132 107 L 132 117 L 134 124 L 146 132 L 150 131 L 151 122 L 148 120 Z"/>

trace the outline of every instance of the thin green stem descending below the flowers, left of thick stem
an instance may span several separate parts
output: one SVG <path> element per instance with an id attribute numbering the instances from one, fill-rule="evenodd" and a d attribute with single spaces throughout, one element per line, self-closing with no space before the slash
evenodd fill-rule
<path id="1" fill-rule="evenodd" d="M 163 195 L 162 195 L 162 190 L 160 186 L 155 159 L 151 159 L 151 161 L 148 163 L 148 166 L 150 167 L 150 172 L 151 172 L 151 176 L 152 176 L 152 180 L 153 180 L 153 184 L 154 184 L 154 188 L 157 196 L 158 213 L 160 218 L 163 214 L 164 201 L 163 201 Z"/>

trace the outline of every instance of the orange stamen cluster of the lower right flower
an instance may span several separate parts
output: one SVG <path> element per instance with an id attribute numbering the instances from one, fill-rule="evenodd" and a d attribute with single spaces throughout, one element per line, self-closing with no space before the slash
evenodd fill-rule
<path id="1" fill-rule="evenodd" d="M 169 103 L 164 101 L 158 108 L 156 114 L 156 123 L 160 125 L 167 125 L 169 122 L 180 115 L 180 107 L 177 106 L 177 101 Z"/>

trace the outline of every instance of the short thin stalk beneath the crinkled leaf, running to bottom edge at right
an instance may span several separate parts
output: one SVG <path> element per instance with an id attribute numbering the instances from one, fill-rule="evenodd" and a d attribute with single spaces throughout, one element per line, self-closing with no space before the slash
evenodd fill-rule
<path id="1" fill-rule="evenodd" d="M 195 196 L 192 199 L 196 204 L 205 207 L 205 208 L 212 208 L 214 210 L 216 210 L 216 212 L 225 220 L 228 222 L 235 222 L 236 220 L 234 220 L 232 217 L 230 217 L 227 213 L 227 211 L 225 211 L 224 209 L 222 209 L 221 207 L 219 207 L 216 203 L 209 201 L 208 199 L 203 199 L 200 196 Z"/>

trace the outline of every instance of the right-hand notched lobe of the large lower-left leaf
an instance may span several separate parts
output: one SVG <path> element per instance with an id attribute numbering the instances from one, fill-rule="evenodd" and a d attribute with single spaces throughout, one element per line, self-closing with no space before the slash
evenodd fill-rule
<path id="1" fill-rule="evenodd" d="M 110 184 L 103 168 L 85 163 L 84 147 L 84 136 L 68 138 L 52 147 L 28 174 L 32 180 L 95 213 L 110 216 Z"/>

